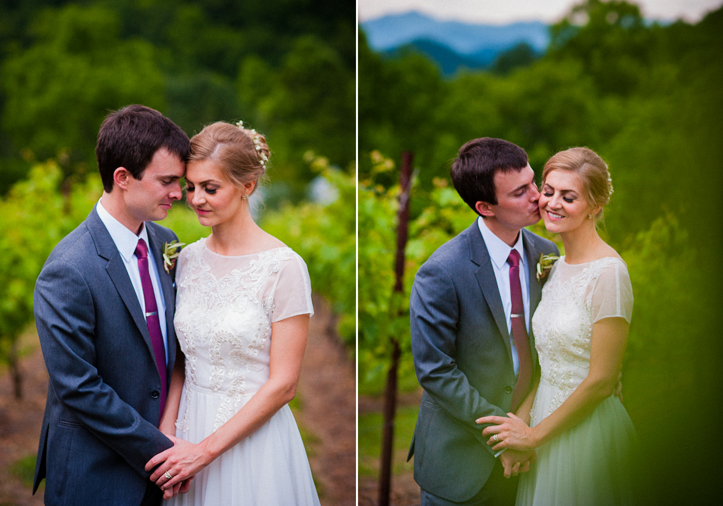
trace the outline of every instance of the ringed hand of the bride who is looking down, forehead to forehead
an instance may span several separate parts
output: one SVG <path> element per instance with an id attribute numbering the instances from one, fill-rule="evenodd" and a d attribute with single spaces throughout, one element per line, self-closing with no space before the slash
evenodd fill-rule
<path id="1" fill-rule="evenodd" d="M 201 471 L 213 461 L 213 458 L 209 458 L 205 452 L 203 442 L 194 445 L 192 442 L 171 435 L 168 435 L 168 439 L 171 439 L 174 446 L 168 448 L 165 452 L 155 455 L 155 457 L 148 460 L 145 465 L 145 470 L 150 471 L 155 466 L 161 464 L 153 471 L 153 474 L 150 475 L 150 481 L 153 481 L 161 487 L 164 497 L 167 492 L 173 490 L 175 484 L 184 480 L 190 481 L 189 479 L 192 478 L 194 474 Z M 168 479 L 166 472 L 171 475 L 171 479 Z M 184 488 L 187 490 L 188 486 L 189 484 L 181 486 L 180 492 L 186 492 Z"/>

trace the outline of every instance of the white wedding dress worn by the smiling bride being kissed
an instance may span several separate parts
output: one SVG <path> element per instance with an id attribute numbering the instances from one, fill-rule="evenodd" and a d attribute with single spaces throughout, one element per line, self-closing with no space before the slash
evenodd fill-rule
<path id="1" fill-rule="evenodd" d="M 613 257 L 568 265 L 555 262 L 532 317 L 542 378 L 531 410 L 539 424 L 588 375 L 592 325 L 608 317 L 630 323 L 633 290 L 628 267 Z M 517 506 L 628 505 L 633 423 L 615 396 L 576 426 L 535 450 L 522 473 Z"/>

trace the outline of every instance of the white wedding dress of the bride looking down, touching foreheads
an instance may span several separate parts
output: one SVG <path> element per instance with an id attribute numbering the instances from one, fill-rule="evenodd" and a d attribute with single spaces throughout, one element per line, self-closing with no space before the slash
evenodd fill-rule
<path id="1" fill-rule="evenodd" d="M 269 379 L 271 324 L 313 314 L 304 260 L 291 248 L 226 257 L 186 246 L 176 272 L 174 327 L 186 355 L 176 437 L 200 442 Z M 288 405 L 198 473 L 174 506 L 319 505 Z"/>

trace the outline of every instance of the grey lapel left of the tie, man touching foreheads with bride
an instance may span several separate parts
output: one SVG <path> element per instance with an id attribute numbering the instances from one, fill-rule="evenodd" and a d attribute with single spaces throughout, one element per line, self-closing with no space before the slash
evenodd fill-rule
<path id="1" fill-rule="evenodd" d="M 121 299 L 123 299 L 123 303 L 131 314 L 133 322 L 138 327 L 138 330 L 140 330 L 148 351 L 150 351 L 150 356 L 155 356 L 153 354 L 153 343 L 151 343 L 150 340 L 150 333 L 148 333 L 148 325 L 145 322 L 143 310 L 141 309 L 138 296 L 131 283 L 131 278 L 128 276 L 128 270 L 126 269 L 123 257 L 121 257 L 113 239 L 111 239 L 111 234 L 108 233 L 108 229 L 103 225 L 103 221 L 100 220 L 100 216 L 98 216 L 98 213 L 95 211 L 95 207 L 93 207 L 85 223 L 90 232 L 90 236 L 93 237 L 98 256 L 108 260 L 108 265 L 106 265 L 108 276 L 110 276 Z"/>

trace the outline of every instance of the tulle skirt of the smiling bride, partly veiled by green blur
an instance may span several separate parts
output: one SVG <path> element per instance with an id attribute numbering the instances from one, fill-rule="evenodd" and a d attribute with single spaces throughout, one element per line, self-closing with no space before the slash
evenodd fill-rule
<path id="1" fill-rule="evenodd" d="M 536 413 L 547 413 L 559 392 L 540 382 Z M 538 421 L 533 419 L 533 426 Z M 633 504 L 630 458 L 636 441 L 630 416 L 611 395 L 578 425 L 535 450 L 529 473 L 521 474 L 516 506 Z"/>

